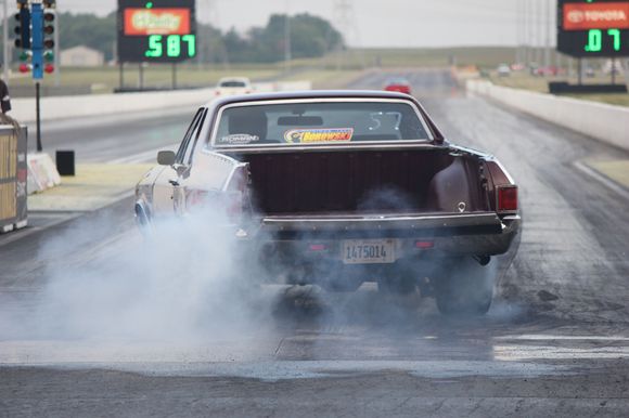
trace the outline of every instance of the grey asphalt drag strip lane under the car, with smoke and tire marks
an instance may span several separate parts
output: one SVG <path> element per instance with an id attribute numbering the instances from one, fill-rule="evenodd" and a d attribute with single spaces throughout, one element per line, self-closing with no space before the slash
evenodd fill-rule
<path id="1" fill-rule="evenodd" d="M 371 284 L 232 286 L 220 246 L 175 230 L 146 249 L 125 199 L 0 247 L 0 416 L 626 416 L 627 201 L 575 161 L 627 153 L 452 92 L 449 71 L 405 74 L 521 185 L 486 317 Z"/>

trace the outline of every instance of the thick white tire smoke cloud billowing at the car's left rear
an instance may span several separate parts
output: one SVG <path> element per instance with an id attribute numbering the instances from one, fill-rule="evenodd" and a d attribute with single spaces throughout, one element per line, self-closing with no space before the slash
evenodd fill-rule
<path id="1" fill-rule="evenodd" d="M 158 221 L 145 239 L 133 227 L 102 243 L 93 239 L 116 230 L 111 218 L 78 222 L 42 245 L 43 291 L 26 316 L 3 314 L 0 338 L 194 341 L 259 331 L 269 309 L 257 259 L 239 253 L 217 213 L 204 207 Z"/>

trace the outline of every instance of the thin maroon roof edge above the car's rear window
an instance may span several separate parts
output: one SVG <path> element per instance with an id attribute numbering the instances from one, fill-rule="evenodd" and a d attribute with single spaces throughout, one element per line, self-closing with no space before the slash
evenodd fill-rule
<path id="1" fill-rule="evenodd" d="M 213 100 L 206 104 L 207 107 L 220 107 L 235 103 L 251 103 L 264 101 L 283 101 L 283 100 L 310 100 L 310 99 L 383 99 L 383 100 L 406 100 L 414 102 L 413 97 L 398 92 L 381 90 L 303 90 L 303 91 L 284 91 L 272 93 L 254 93 L 240 94 L 228 97 Z"/>

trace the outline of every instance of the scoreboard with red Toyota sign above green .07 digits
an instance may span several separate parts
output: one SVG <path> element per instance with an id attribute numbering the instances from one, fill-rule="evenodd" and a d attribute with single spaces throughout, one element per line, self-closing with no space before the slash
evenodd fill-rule
<path id="1" fill-rule="evenodd" d="M 557 0 L 557 51 L 629 56 L 629 0 Z"/>

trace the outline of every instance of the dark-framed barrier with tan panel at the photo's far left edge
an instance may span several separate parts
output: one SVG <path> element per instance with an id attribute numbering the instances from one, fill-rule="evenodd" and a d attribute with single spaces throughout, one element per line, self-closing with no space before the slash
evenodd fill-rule
<path id="1" fill-rule="evenodd" d="M 0 233 L 27 224 L 26 128 L 0 126 Z"/>

